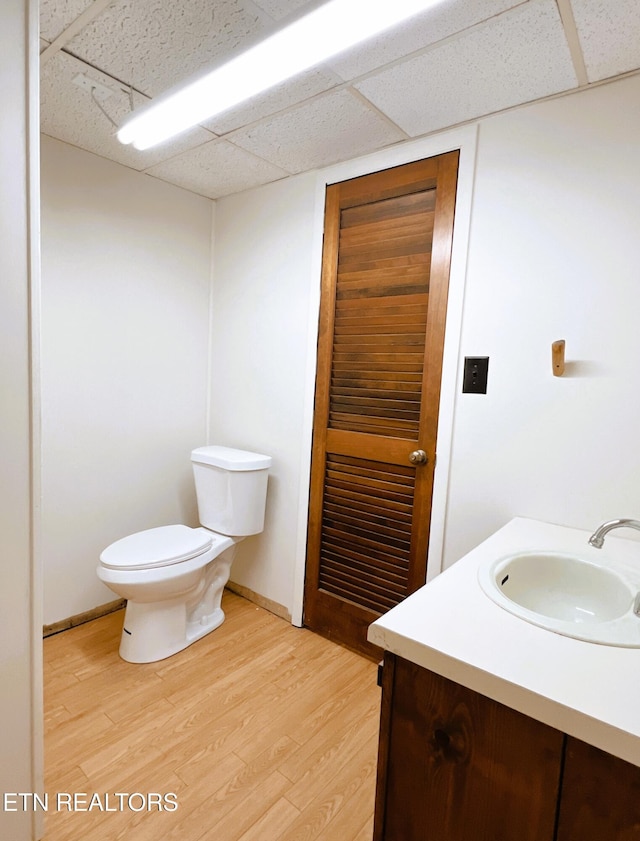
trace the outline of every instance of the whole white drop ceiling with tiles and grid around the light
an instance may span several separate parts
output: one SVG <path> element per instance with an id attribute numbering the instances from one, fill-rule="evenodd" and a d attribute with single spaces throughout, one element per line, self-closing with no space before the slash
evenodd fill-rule
<path id="1" fill-rule="evenodd" d="M 41 0 L 42 131 L 216 199 L 640 68 L 638 0 L 442 0 L 158 147 L 117 141 L 130 91 L 139 107 L 317 5 Z"/>

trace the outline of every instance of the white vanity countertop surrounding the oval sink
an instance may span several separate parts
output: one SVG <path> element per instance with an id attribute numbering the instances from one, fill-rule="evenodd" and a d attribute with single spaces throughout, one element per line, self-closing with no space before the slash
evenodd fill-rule
<path id="1" fill-rule="evenodd" d="M 596 524 L 597 525 L 597 524 Z M 582 642 L 525 622 L 480 589 L 478 567 L 516 551 L 614 557 L 640 543 L 516 518 L 369 628 L 375 645 L 640 766 L 640 648 Z M 640 622 L 640 619 L 638 620 Z"/>

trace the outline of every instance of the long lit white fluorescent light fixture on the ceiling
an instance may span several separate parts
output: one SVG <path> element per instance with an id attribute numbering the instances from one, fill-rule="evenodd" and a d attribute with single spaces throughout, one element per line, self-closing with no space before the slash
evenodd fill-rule
<path id="1" fill-rule="evenodd" d="M 133 114 L 118 131 L 118 140 L 148 149 L 441 2 L 329 0 Z"/>

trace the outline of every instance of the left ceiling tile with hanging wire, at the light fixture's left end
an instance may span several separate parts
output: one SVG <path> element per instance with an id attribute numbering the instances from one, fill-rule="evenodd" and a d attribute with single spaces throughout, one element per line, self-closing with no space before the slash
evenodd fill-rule
<path id="1" fill-rule="evenodd" d="M 92 101 L 90 91 L 73 83 L 80 74 L 113 91 L 112 96 L 101 96 L 99 101 L 115 122 L 122 122 L 130 112 L 128 93 L 113 79 L 60 52 L 44 65 L 41 72 L 40 121 L 44 134 L 136 170 L 146 169 L 150 164 L 211 139 L 210 132 L 197 128 L 146 152 L 123 146 L 115 137 L 114 126 Z M 144 97 L 134 94 L 136 106 L 144 102 Z"/>

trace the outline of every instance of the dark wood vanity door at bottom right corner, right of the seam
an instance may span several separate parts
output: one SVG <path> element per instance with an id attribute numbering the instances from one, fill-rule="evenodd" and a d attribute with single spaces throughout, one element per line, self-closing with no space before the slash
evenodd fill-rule
<path id="1" fill-rule="evenodd" d="M 558 841 L 640 841 L 640 768 L 568 736 Z"/>

